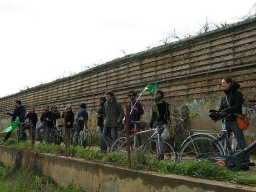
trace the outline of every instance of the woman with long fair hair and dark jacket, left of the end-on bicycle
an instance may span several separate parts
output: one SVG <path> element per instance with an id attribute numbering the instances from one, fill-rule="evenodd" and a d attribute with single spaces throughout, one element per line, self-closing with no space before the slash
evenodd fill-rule
<path id="1" fill-rule="evenodd" d="M 73 123 L 75 121 L 75 114 L 72 111 L 72 108 L 70 105 L 65 107 L 65 111 L 62 114 L 62 118 L 65 118 L 66 116 L 66 127 L 67 127 L 67 142 L 68 145 L 72 144 L 71 141 L 71 129 L 73 129 Z"/>

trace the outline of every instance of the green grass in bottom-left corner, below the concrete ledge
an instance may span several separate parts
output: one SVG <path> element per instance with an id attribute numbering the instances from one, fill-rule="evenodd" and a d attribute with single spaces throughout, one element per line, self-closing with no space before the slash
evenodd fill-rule
<path id="1" fill-rule="evenodd" d="M 35 170 L 16 170 L 0 164 L 0 192 L 75 192 L 72 184 L 66 188 L 57 186 L 48 176 L 43 176 Z M 80 190 L 81 191 L 81 190 Z"/>

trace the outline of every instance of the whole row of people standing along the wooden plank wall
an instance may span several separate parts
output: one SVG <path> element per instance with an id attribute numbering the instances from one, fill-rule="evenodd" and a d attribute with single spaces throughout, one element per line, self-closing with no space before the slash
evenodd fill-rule
<path id="1" fill-rule="evenodd" d="M 228 112 L 230 114 L 228 120 L 225 121 L 227 127 L 227 134 L 230 136 L 230 133 L 233 132 L 235 137 L 237 137 L 238 145 L 240 149 L 247 147 L 247 143 L 244 139 L 243 131 L 239 129 L 237 124 L 237 119 L 234 114 L 242 115 L 242 106 L 243 106 L 243 94 L 238 89 L 240 85 L 235 82 L 233 78 L 224 78 L 221 82 L 222 90 L 224 91 L 224 96 L 220 102 L 219 110 L 217 112 Z M 129 112 L 129 129 L 132 131 L 135 124 L 132 124 L 132 121 L 140 121 L 141 116 L 144 114 L 144 109 L 141 102 L 136 100 L 137 92 L 131 90 L 127 92 L 127 97 L 130 102 L 127 105 Z M 62 112 L 58 111 L 55 105 L 51 107 L 46 106 L 45 111 L 40 117 L 41 124 L 37 125 L 37 114 L 34 107 L 30 107 L 30 111 L 26 115 L 26 107 L 22 105 L 20 100 L 16 101 L 16 107 L 13 113 L 6 113 L 7 115 L 12 116 L 12 121 L 16 120 L 16 117 L 19 117 L 20 122 L 24 122 L 26 119 L 31 123 L 31 143 L 35 144 L 35 136 L 38 136 L 38 140 L 42 142 L 42 129 L 45 129 L 45 143 L 50 143 L 50 134 L 56 129 L 56 121 L 61 117 L 66 119 L 65 126 L 67 129 L 74 129 L 75 134 L 72 140 L 72 145 L 77 146 L 78 139 L 77 136 L 83 130 L 83 127 L 88 120 L 88 112 L 86 111 L 86 104 L 82 103 L 79 106 L 76 117 L 75 113 L 72 111 L 70 105 L 65 107 L 65 110 Z M 169 103 L 165 100 L 165 94 L 163 91 L 157 89 L 154 93 L 154 103 L 152 104 L 152 115 L 151 121 L 149 124 L 150 129 L 156 127 L 157 124 L 163 124 L 165 129 L 168 129 L 168 118 L 170 117 Z M 100 134 L 100 143 L 99 150 L 101 152 L 107 151 L 105 139 L 109 138 L 114 141 L 117 138 L 117 129 L 121 127 L 122 120 L 124 120 L 125 112 L 120 102 L 114 96 L 114 93 L 108 91 L 105 93 L 105 96 L 100 97 L 99 99 L 99 109 L 96 112 L 97 117 L 97 126 Z M 81 120 L 81 121 L 80 121 Z M 74 126 L 76 124 L 76 126 Z M 140 125 L 136 126 L 136 129 L 140 131 Z M 0 145 L 6 142 L 12 132 L 8 132 L 4 136 Z M 70 131 L 67 132 L 68 140 L 70 140 L 71 135 Z M 242 161 L 246 164 L 249 160 L 249 153 L 244 156 Z M 249 169 L 246 165 L 245 170 Z"/>

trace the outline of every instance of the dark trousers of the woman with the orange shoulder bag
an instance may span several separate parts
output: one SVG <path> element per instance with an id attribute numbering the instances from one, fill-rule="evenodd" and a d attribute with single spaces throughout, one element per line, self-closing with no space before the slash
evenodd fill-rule
<path id="1" fill-rule="evenodd" d="M 240 148 L 244 149 L 245 147 L 247 147 L 247 143 L 245 142 L 245 139 L 244 139 L 244 132 L 239 129 L 237 121 L 225 122 L 225 125 L 227 129 L 228 138 L 231 132 L 233 132 L 233 134 L 237 138 L 237 142 Z M 242 163 L 249 163 L 249 162 L 250 162 L 250 155 L 249 155 L 249 152 L 247 152 L 247 154 L 245 154 L 245 156 L 242 159 Z"/>

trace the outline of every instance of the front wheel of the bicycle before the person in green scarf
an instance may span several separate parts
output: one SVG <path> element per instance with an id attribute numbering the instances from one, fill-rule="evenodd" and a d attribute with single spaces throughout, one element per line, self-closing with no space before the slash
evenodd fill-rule
<path id="1" fill-rule="evenodd" d="M 165 140 L 161 140 L 157 145 L 157 138 L 151 139 L 143 147 L 144 154 L 149 154 L 151 159 L 176 161 L 176 152 Z"/>

